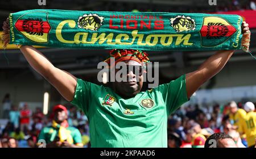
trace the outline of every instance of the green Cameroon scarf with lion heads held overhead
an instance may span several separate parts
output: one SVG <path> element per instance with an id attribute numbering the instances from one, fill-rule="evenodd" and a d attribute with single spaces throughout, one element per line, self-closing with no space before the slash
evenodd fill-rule
<path id="1" fill-rule="evenodd" d="M 25 10 L 9 15 L 10 44 L 85 49 L 241 49 L 239 15 Z"/>

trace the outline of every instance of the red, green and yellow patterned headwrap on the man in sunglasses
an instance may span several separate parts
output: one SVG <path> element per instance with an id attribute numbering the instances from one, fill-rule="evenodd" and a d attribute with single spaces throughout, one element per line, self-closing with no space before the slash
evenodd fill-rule
<path id="1" fill-rule="evenodd" d="M 115 64 L 121 61 L 134 60 L 146 66 L 149 61 L 148 55 L 144 51 L 134 50 L 134 49 L 112 49 L 109 52 L 110 56 L 104 61 L 107 62 L 110 66 L 110 57 L 115 58 Z"/>

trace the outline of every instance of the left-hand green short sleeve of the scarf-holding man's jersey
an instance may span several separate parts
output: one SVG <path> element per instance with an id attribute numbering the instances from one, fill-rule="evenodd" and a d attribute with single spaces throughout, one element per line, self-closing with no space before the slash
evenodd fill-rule
<path id="1" fill-rule="evenodd" d="M 85 115 L 88 114 L 88 98 L 90 95 L 90 82 L 83 81 L 77 78 L 76 91 L 72 104 L 79 107 L 84 111 Z"/>

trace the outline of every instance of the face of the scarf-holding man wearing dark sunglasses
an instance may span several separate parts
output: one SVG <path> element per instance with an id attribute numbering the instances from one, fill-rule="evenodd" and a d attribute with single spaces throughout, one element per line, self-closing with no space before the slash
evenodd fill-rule
<path id="1" fill-rule="evenodd" d="M 128 70 L 125 76 L 127 77 L 127 82 L 114 82 L 114 89 L 117 91 L 119 95 L 122 97 L 134 97 L 136 94 L 139 93 L 142 89 L 143 85 L 143 69 L 141 63 L 130 60 L 126 62 L 127 69 L 131 68 L 130 66 L 133 66 L 134 69 Z M 140 69 L 141 68 L 141 69 Z M 135 69 L 139 74 L 137 76 L 135 75 Z M 115 74 L 118 72 L 118 69 L 115 69 Z M 139 79 L 137 80 L 136 77 Z"/>

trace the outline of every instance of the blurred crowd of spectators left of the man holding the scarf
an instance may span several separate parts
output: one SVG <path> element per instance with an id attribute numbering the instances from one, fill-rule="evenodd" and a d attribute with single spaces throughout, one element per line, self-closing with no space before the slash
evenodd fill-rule
<path id="1" fill-rule="evenodd" d="M 79 140 L 79 144 L 82 147 L 90 147 L 89 139 L 89 124 L 88 119 L 81 110 L 77 110 L 75 106 L 62 107 L 57 105 L 53 107 L 53 110 L 48 115 L 44 115 L 41 108 L 36 108 L 35 111 L 31 111 L 28 104 L 24 103 L 21 107 L 14 106 L 11 103 L 10 95 L 6 94 L 2 101 L 3 107 L 3 123 L 0 125 L 0 147 L 3 148 L 27 148 L 38 147 L 38 140 L 41 138 L 48 140 L 47 135 L 43 134 L 47 131 L 46 128 L 52 127 L 49 131 L 54 132 L 53 122 L 58 120 L 58 116 L 55 118 L 56 108 L 59 110 L 65 110 L 64 113 L 67 118 L 61 119 L 59 124 L 65 125 L 65 128 L 73 132 L 76 132 L 76 136 L 73 137 L 74 141 Z M 60 117 L 59 117 L 60 118 Z M 57 125 L 57 124 L 56 124 Z M 59 132 L 60 132 L 59 128 Z M 49 132 L 51 133 L 51 132 Z M 64 132 L 65 134 L 65 132 Z M 78 134 L 78 135 L 77 135 Z M 57 136 L 57 135 L 56 135 Z M 67 136 L 67 135 L 65 135 Z M 67 137 L 68 139 L 68 137 Z M 72 142 L 74 143 L 72 139 Z M 81 145 L 82 144 L 82 145 Z"/>

